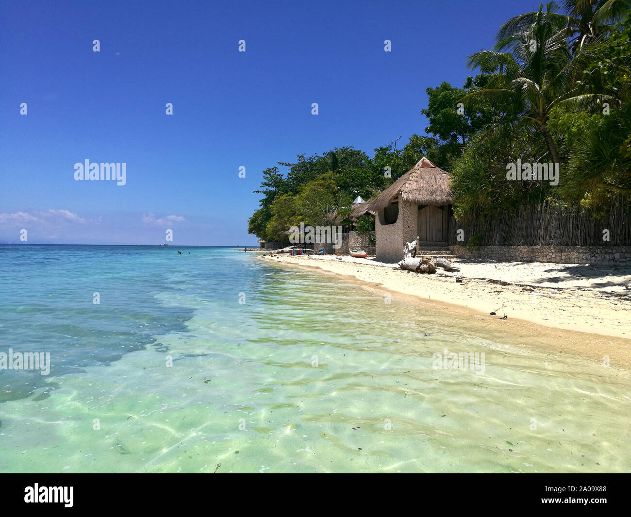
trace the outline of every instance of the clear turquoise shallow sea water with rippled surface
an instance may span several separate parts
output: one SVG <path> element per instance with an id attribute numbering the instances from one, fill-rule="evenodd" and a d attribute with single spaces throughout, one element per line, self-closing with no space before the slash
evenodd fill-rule
<path id="1" fill-rule="evenodd" d="M 631 470 L 628 372 L 179 249 L 0 246 L 0 352 L 52 362 L 0 371 L 0 472 Z M 445 348 L 483 374 L 435 369 Z"/>

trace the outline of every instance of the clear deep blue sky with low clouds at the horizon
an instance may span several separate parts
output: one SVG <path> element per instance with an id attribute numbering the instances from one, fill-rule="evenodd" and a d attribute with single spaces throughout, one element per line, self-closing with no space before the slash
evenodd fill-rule
<path id="1" fill-rule="evenodd" d="M 254 244 L 262 170 L 423 134 L 425 89 L 536 5 L 5 1 L 0 242 Z M 86 159 L 126 184 L 75 181 Z"/>

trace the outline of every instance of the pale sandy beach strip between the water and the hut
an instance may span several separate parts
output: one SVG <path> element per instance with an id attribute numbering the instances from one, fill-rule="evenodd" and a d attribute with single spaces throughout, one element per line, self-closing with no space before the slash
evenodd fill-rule
<path id="1" fill-rule="evenodd" d="M 455 261 L 461 273 L 419 275 L 399 270 L 396 264 L 349 257 L 339 261 L 333 256 L 281 254 L 263 259 L 352 276 L 372 284 L 369 287 L 392 292 L 393 297 L 401 293 L 461 312 L 465 308 L 465 312 L 504 329 L 519 327 L 526 334 L 545 333 L 551 342 L 553 329 L 565 331 L 558 338 L 572 342 L 573 352 L 594 360 L 609 355 L 618 364 L 631 367 L 631 291 L 625 287 L 631 275 L 623 274 L 628 268 L 621 268 L 621 272 L 580 264 L 514 263 L 508 267 L 505 263 Z M 581 268 L 591 274 L 576 273 Z M 565 274 L 567 271 L 572 274 Z M 462 283 L 456 282 L 456 275 L 464 276 Z M 504 315 L 508 318 L 496 321 Z"/>

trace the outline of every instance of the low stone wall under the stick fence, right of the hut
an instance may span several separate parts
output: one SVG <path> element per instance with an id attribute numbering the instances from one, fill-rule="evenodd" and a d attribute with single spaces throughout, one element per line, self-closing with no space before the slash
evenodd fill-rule
<path id="1" fill-rule="evenodd" d="M 615 264 L 631 260 L 631 246 L 463 246 L 453 244 L 459 258 L 500 262 L 553 262 L 557 264 Z"/>

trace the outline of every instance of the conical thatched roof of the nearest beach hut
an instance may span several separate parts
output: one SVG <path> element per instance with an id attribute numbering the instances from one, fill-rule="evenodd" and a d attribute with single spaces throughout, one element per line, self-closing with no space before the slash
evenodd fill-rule
<path id="1" fill-rule="evenodd" d="M 423 157 L 408 172 L 387 187 L 375 198 L 353 213 L 359 217 L 370 211 L 375 213 L 386 208 L 394 199 L 412 201 L 419 205 L 449 205 L 451 203 L 451 176 Z"/>

